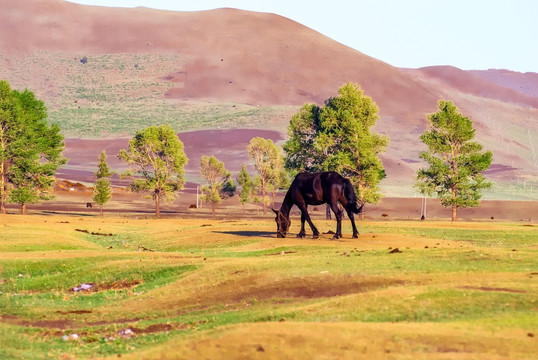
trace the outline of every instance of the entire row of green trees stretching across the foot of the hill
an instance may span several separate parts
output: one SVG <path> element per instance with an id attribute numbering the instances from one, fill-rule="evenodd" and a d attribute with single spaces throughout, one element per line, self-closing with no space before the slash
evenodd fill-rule
<path id="1" fill-rule="evenodd" d="M 237 176 L 244 204 L 251 198 L 261 202 L 263 211 L 279 189 L 289 186 L 288 175 L 300 171 L 338 171 L 354 184 L 359 200 L 376 203 L 381 198 L 380 181 L 386 177 L 379 154 L 389 139 L 372 133 L 379 109 L 360 87 L 345 84 L 338 95 L 323 106 L 305 104 L 292 117 L 288 140 L 281 149 L 271 140 L 253 138 L 248 146 L 257 175 L 251 178 L 243 167 Z M 481 190 L 491 184 L 481 174 L 492 160 L 489 151 L 472 141 L 475 129 L 450 101 L 439 101 L 438 112 L 427 115 L 430 128 L 421 140 L 428 150 L 420 157 L 428 164 L 417 174 L 416 187 L 423 194 L 437 196 L 451 206 L 453 221 L 457 209 L 478 206 Z M 54 173 L 66 162 L 61 156 L 63 137 L 55 125 L 47 124 L 46 109 L 29 91 L 11 90 L 0 81 L 0 206 L 8 201 L 21 204 L 50 198 Z M 187 157 L 183 143 L 168 125 L 138 131 L 118 157 L 129 166 L 131 189 L 147 192 L 160 216 L 161 201 L 173 198 L 185 184 Z M 231 173 L 214 156 L 203 156 L 200 174 L 207 180 L 203 200 L 215 204 L 233 196 L 236 186 Z M 94 201 L 102 206 L 110 199 L 112 171 L 106 153 L 99 158 Z M 261 198 L 260 198 L 261 195 Z"/>

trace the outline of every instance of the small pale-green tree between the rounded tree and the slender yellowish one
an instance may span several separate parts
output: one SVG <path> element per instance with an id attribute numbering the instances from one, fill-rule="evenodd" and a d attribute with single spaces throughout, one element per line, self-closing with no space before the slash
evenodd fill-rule
<path id="1" fill-rule="evenodd" d="M 215 215 L 215 205 L 233 196 L 235 192 L 232 174 L 216 157 L 202 156 L 200 175 L 209 182 L 208 185 L 202 186 L 202 200 L 211 203 L 211 214 Z"/>

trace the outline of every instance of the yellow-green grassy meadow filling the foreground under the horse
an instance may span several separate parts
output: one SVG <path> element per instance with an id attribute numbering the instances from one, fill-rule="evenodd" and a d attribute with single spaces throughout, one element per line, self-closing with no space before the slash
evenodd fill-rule
<path id="1" fill-rule="evenodd" d="M 0 358 L 536 358 L 536 226 L 315 222 L 0 216 Z"/>

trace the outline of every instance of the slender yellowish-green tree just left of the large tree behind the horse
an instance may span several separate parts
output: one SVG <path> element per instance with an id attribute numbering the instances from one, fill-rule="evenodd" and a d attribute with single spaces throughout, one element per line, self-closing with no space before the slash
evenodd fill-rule
<path id="1" fill-rule="evenodd" d="M 269 198 L 267 191 L 283 166 L 283 158 L 280 148 L 273 143 L 271 139 L 255 137 L 250 140 L 248 145 L 248 154 L 254 161 L 254 167 L 258 171 L 259 189 L 262 193 L 263 213 L 266 213 L 266 206 Z"/>

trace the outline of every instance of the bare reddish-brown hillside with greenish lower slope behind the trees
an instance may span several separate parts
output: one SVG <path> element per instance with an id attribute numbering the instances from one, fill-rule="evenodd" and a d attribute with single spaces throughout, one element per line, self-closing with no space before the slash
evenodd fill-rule
<path id="1" fill-rule="evenodd" d="M 352 81 L 378 104 L 376 130 L 391 139 L 387 191 L 413 193 L 418 136 L 441 98 L 475 121 L 494 152 L 495 181 L 538 186 L 538 107 L 515 82 L 450 67 L 398 69 L 274 14 L 2 3 L 0 77 L 44 99 L 67 136 L 125 137 L 163 122 L 178 131 L 285 132 L 299 106 L 322 104 Z"/>

